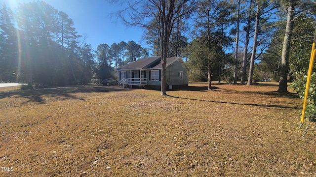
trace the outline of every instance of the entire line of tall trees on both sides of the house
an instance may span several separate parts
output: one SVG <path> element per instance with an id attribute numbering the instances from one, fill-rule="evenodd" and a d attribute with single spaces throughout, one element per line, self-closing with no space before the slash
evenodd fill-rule
<path id="1" fill-rule="evenodd" d="M 169 3 L 150 1 L 152 9 L 160 1 Z M 169 5 L 178 10 L 169 19 L 172 30 L 163 54 L 161 18 L 167 16 L 137 9 L 138 3 L 130 3 L 138 12 L 129 13 L 129 18 L 135 15 L 129 24 L 145 27 L 150 50 L 122 41 L 100 44 L 94 51 L 72 19 L 46 2 L 21 3 L 15 13 L 2 4 L 0 80 L 84 84 L 113 77 L 116 69 L 136 59 L 162 55 L 184 57 L 190 80 L 208 81 L 209 89 L 212 80 L 251 85 L 274 78 L 283 86 L 284 80 L 303 77 L 307 70 L 316 23 L 316 3 L 310 0 L 172 0 Z M 141 12 L 149 14 L 148 23 Z M 142 14 L 138 20 L 137 14 Z"/>

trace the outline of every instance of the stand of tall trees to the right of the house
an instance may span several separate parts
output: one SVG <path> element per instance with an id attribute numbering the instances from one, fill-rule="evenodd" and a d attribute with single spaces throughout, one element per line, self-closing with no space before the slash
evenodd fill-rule
<path id="1" fill-rule="evenodd" d="M 137 3 L 130 4 L 132 11 L 144 14 Z M 167 50 L 168 57 L 185 57 L 191 81 L 208 81 L 211 89 L 212 80 L 252 85 L 273 78 L 279 81 L 278 91 L 287 92 L 286 83 L 306 73 L 316 24 L 315 2 L 198 0 L 195 5 L 196 11 L 173 22 Z M 127 14 L 131 18 L 137 13 Z M 152 19 L 148 25 L 139 24 L 140 19 L 129 24 L 145 27 L 148 44 L 160 55 L 158 31 L 163 23 L 155 15 Z"/>

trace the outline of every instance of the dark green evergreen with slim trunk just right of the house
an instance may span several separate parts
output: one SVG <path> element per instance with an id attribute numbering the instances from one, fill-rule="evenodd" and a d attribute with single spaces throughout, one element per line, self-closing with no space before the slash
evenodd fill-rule
<path id="1" fill-rule="evenodd" d="M 201 8 L 199 8 L 197 19 L 195 20 L 197 39 L 206 40 L 206 42 L 204 40 L 198 41 L 204 41 L 202 43 L 199 42 L 199 44 L 203 45 L 202 51 L 205 53 L 205 56 L 201 58 L 205 61 L 201 63 L 208 68 L 207 80 L 209 90 L 211 90 L 212 67 L 217 63 L 222 63 L 219 60 L 225 58 L 223 47 L 228 46 L 231 42 L 225 35 L 224 30 L 229 25 L 230 9 L 230 5 L 225 1 L 214 2 L 205 0 L 201 2 Z"/>

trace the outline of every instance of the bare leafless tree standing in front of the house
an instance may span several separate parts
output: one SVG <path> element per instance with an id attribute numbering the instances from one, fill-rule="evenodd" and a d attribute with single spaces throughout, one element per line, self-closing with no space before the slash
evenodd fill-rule
<path id="1" fill-rule="evenodd" d="M 197 7 L 196 0 L 136 0 L 128 1 L 127 8 L 118 11 L 122 21 L 130 26 L 150 28 L 158 22 L 161 41 L 161 95 L 166 95 L 166 62 L 170 34 L 180 18 L 188 18 Z"/>

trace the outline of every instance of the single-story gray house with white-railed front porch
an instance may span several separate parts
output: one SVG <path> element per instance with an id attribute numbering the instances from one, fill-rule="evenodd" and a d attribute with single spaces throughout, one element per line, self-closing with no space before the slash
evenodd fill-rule
<path id="1" fill-rule="evenodd" d="M 161 57 L 138 59 L 118 69 L 120 87 L 161 89 Z M 166 89 L 188 87 L 187 69 L 180 57 L 167 58 Z"/>

